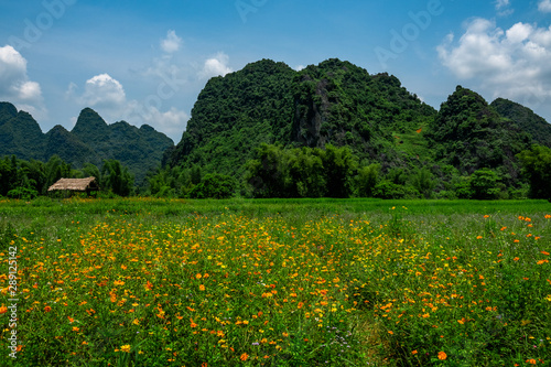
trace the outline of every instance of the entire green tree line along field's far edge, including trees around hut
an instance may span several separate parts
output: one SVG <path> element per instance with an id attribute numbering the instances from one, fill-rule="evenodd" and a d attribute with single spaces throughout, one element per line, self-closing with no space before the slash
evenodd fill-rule
<path id="1" fill-rule="evenodd" d="M 469 175 L 453 165 L 382 168 L 360 161 L 348 147 L 287 149 L 262 143 L 247 161 L 241 180 L 216 172 L 204 174 L 198 165 L 166 165 L 150 172 L 147 186 L 140 190 L 117 160 L 104 160 L 100 168 L 87 163 L 74 170 L 57 155 L 47 162 L 6 156 L 0 159 L 0 196 L 30 199 L 46 195 L 61 177 L 95 176 L 104 193 L 119 196 L 551 199 L 551 149 L 533 145 L 517 158 L 523 181 L 510 186 L 507 177 L 488 168 Z"/>

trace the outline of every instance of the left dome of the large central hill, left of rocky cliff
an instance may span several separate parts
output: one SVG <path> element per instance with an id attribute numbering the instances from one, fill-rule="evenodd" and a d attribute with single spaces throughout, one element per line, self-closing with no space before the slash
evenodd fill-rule
<path id="1" fill-rule="evenodd" d="M 171 165 L 198 164 L 235 174 L 261 142 L 289 141 L 294 75 L 283 63 L 262 60 L 208 80 Z"/>

